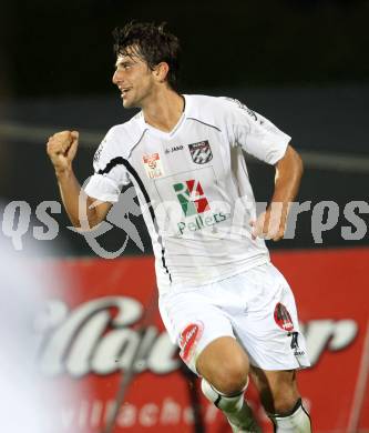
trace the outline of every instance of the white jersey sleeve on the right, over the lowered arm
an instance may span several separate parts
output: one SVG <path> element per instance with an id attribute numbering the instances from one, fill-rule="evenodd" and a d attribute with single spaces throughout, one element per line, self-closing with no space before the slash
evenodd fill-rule
<path id="1" fill-rule="evenodd" d="M 237 100 L 227 100 L 228 131 L 236 145 L 268 164 L 275 164 L 285 154 L 291 138 L 262 114 Z"/>

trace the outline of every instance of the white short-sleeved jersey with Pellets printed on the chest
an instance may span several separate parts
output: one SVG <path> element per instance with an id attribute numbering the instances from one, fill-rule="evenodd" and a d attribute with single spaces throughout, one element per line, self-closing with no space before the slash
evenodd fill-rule
<path id="1" fill-rule="evenodd" d="M 184 113 L 171 132 L 145 123 L 142 112 L 113 127 L 85 188 L 91 198 L 116 202 L 122 187 L 133 183 L 162 293 L 269 261 L 264 240 L 250 235 L 255 200 L 243 150 L 275 164 L 290 141 L 239 101 L 184 98 Z"/>

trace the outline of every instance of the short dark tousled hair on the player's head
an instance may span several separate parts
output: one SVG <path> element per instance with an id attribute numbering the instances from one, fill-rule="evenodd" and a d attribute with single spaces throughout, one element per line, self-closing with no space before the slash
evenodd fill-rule
<path id="1" fill-rule="evenodd" d="M 114 29 L 114 52 L 116 57 L 126 56 L 126 50 L 131 47 L 152 70 L 160 62 L 166 62 L 170 67 L 167 82 L 171 88 L 176 89 L 181 47 L 178 38 L 165 31 L 164 27 L 165 22 L 156 26 L 153 22 L 131 21 L 123 28 Z"/>

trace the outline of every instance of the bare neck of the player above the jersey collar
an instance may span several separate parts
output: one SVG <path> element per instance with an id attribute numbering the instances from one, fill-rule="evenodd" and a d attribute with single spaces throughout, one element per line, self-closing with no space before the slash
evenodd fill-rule
<path id="1" fill-rule="evenodd" d="M 152 98 L 152 102 L 143 108 L 145 122 L 161 131 L 171 132 L 183 114 L 184 104 L 181 94 L 166 89 Z"/>

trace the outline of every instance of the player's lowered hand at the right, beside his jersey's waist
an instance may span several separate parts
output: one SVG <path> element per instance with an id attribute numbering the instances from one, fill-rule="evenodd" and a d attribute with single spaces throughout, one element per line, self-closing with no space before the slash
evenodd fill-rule
<path id="1" fill-rule="evenodd" d="M 252 238 L 279 241 L 286 231 L 287 209 L 286 203 L 271 203 L 271 205 L 259 214 L 256 221 L 250 221 Z"/>

